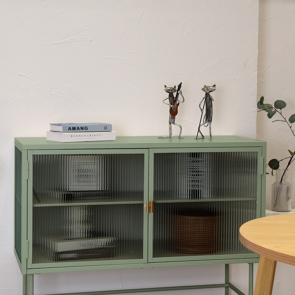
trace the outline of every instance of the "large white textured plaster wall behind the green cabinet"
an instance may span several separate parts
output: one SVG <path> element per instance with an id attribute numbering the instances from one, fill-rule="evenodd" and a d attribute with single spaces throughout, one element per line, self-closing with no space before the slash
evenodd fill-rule
<path id="1" fill-rule="evenodd" d="M 213 135 L 255 138 L 257 42 L 254 0 L 0 1 L 0 294 L 21 294 L 22 284 L 13 254 L 14 137 L 45 136 L 50 122 L 110 122 L 118 136 L 167 135 L 164 84 L 183 82 L 186 101 L 176 118 L 183 135 L 196 134 L 201 87 L 216 84 Z M 40 275 L 35 294 L 220 283 L 223 268 Z M 235 273 L 245 291 L 243 269 Z"/>

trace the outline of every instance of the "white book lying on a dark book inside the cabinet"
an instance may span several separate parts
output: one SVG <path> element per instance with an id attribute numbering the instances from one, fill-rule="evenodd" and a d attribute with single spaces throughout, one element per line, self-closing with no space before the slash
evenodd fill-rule
<path id="1" fill-rule="evenodd" d="M 78 238 L 78 239 L 60 239 L 50 238 L 49 248 L 54 252 L 65 252 L 75 250 L 88 250 L 98 248 L 115 247 L 115 238 L 113 236 Z"/>

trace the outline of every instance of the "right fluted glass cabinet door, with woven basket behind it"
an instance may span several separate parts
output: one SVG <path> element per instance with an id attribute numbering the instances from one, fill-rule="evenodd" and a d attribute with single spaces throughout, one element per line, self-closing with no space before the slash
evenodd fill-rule
<path id="1" fill-rule="evenodd" d="M 155 149 L 150 261 L 251 255 L 238 233 L 257 216 L 261 150 L 218 150 Z"/>

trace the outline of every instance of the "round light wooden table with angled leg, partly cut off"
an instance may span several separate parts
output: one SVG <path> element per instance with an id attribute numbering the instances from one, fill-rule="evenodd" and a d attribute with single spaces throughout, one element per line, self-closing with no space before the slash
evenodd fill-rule
<path id="1" fill-rule="evenodd" d="M 295 214 L 248 221 L 240 227 L 240 241 L 260 254 L 254 295 L 271 295 L 276 262 L 295 266 Z"/>

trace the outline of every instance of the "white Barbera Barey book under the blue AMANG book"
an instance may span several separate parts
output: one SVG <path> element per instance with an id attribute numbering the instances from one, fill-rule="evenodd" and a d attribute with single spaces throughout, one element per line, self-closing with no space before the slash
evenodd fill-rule
<path id="1" fill-rule="evenodd" d="M 58 142 L 106 141 L 115 140 L 116 131 L 101 132 L 46 132 L 46 140 Z"/>

